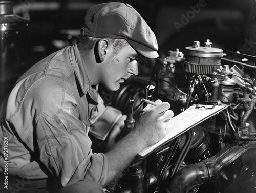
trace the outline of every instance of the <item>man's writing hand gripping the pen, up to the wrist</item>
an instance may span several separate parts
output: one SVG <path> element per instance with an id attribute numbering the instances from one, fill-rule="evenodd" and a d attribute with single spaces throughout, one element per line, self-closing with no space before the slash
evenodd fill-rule
<path id="1" fill-rule="evenodd" d="M 160 141 L 166 135 L 166 127 L 169 119 L 174 116 L 173 111 L 169 110 L 170 104 L 157 100 L 157 106 L 148 104 L 137 118 L 134 126 L 134 134 L 145 147 L 151 146 Z"/>

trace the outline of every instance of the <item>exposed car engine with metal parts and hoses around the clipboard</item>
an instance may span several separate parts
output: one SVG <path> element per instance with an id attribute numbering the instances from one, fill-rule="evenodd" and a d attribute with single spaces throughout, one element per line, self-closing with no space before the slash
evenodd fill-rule
<path id="1" fill-rule="evenodd" d="M 97 142 L 100 149 L 131 131 L 145 106 L 141 98 L 169 102 L 175 116 L 194 104 L 228 105 L 146 157 L 137 156 L 105 191 L 255 192 L 253 62 L 254 56 L 214 48 L 210 40 L 203 46 L 194 41 L 184 54 L 177 49 L 158 58 L 150 77 L 134 77 L 116 93 L 100 89 L 106 103 L 127 115 L 122 131 Z"/>

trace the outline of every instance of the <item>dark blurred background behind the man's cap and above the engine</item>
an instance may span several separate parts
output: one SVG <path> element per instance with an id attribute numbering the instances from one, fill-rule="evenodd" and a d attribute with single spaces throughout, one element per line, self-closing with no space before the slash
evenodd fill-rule
<path id="1" fill-rule="evenodd" d="M 1 1 L 0 1 L 1 2 Z M 86 11 L 93 5 L 111 1 L 14 1 L 14 13 L 28 19 L 27 36 L 17 44 L 25 44 L 16 61 L 10 56 L 1 66 L 1 100 L 12 88 L 16 79 L 30 66 L 45 56 L 74 43 Z M 185 47 L 193 41 L 201 45 L 210 39 L 212 47 L 224 51 L 240 51 L 256 56 L 255 1 L 165 1 L 127 0 L 112 1 L 132 5 L 155 32 L 159 55 Z M 199 5 L 204 5 L 200 7 Z M 193 12 L 193 7 L 197 11 Z M 193 14 L 194 13 L 194 14 Z M 184 20 L 184 15 L 187 19 Z M 189 17 L 189 18 L 188 18 Z M 177 29 L 177 25 L 181 27 Z M 3 40 L 3 39 L 2 39 Z M 248 43 L 250 42 L 250 44 Z M 3 43 L 1 45 L 3 53 Z M 25 57 L 26 55 L 26 57 Z M 252 63 L 255 66 L 255 63 Z M 9 68 L 12 67 L 12 68 Z"/>

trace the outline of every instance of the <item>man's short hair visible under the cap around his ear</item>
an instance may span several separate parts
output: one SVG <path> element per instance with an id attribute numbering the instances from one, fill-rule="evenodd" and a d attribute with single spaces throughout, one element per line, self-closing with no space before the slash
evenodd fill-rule
<path id="1" fill-rule="evenodd" d="M 94 49 L 96 43 L 102 38 L 89 37 L 89 36 L 78 36 L 77 37 L 77 48 L 80 52 L 88 53 L 90 50 Z M 114 49 L 114 54 L 118 52 L 127 44 L 129 44 L 125 39 L 110 39 L 112 48 Z"/>

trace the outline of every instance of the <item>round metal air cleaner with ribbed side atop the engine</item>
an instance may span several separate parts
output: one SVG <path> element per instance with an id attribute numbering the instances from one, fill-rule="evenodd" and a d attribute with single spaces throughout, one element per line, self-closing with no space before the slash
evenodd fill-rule
<path id="1" fill-rule="evenodd" d="M 200 46 L 199 41 L 194 41 L 193 46 L 185 49 L 185 72 L 210 74 L 221 66 L 223 50 L 212 48 L 209 39 L 204 47 Z"/>

